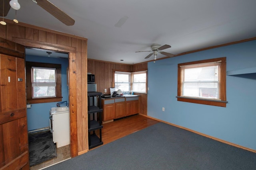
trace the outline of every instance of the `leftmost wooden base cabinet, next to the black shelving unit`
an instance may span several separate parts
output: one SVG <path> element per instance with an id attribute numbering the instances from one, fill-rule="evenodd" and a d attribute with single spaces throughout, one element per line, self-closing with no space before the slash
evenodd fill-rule
<path id="1" fill-rule="evenodd" d="M 110 121 L 115 118 L 115 100 L 103 100 L 103 121 Z"/>

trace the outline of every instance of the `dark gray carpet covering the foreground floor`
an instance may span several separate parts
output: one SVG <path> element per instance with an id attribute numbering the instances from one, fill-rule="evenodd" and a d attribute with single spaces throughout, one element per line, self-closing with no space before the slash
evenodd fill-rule
<path id="1" fill-rule="evenodd" d="M 46 170 L 256 170 L 256 153 L 157 123 Z"/>

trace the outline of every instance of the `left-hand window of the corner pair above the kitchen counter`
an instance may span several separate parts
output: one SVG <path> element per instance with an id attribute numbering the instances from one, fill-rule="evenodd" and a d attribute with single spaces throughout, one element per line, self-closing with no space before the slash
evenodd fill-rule
<path id="1" fill-rule="evenodd" d="M 115 72 L 115 89 L 126 92 L 131 90 L 131 73 L 130 72 Z"/>

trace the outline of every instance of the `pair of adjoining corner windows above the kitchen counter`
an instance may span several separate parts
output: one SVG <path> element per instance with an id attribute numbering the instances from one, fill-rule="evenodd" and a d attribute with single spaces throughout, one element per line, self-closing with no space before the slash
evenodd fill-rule
<path id="1" fill-rule="evenodd" d="M 115 90 L 123 92 L 131 91 L 146 93 L 147 74 L 146 71 L 141 72 L 114 72 Z"/>

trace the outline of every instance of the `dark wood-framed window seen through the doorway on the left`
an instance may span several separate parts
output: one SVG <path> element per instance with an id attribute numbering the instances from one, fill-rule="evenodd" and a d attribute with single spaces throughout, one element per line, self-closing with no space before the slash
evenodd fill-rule
<path id="1" fill-rule="evenodd" d="M 27 102 L 61 101 L 61 64 L 26 62 Z"/>

